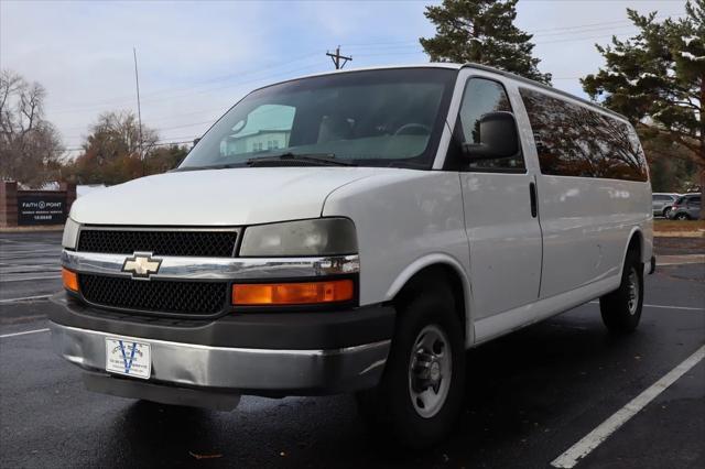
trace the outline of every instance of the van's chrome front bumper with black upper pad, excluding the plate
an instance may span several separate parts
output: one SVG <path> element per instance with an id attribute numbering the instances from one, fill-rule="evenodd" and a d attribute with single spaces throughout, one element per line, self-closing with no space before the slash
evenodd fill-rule
<path id="1" fill-rule="evenodd" d="M 148 383 L 273 396 L 334 394 L 377 385 L 394 317 L 392 308 L 377 306 L 176 325 L 116 317 L 63 296 L 55 303 L 64 308 L 50 315 L 54 349 L 85 370 L 106 373 L 106 337 L 135 339 L 150 343 Z"/>

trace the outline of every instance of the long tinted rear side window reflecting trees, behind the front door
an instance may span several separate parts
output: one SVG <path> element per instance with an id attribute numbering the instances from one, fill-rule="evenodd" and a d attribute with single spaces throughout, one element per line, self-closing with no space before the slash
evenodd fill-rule
<path id="1" fill-rule="evenodd" d="M 631 126 L 538 91 L 520 94 L 542 174 L 647 181 L 647 161 Z"/>

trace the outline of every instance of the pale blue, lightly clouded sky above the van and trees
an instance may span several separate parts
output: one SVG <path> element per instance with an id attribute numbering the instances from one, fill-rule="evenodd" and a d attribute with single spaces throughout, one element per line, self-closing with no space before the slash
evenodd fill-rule
<path id="1" fill-rule="evenodd" d="M 68 150 L 99 113 L 137 112 L 162 142 L 192 141 L 248 91 L 346 68 L 426 63 L 419 37 L 435 29 L 434 1 L 19 1 L 0 0 L 0 67 L 41 83 L 45 118 Z M 516 24 L 534 34 L 541 72 L 584 96 L 578 78 L 603 64 L 595 43 L 636 33 L 626 9 L 685 12 L 684 0 L 520 0 Z M 77 150 L 74 150 L 74 154 Z"/>

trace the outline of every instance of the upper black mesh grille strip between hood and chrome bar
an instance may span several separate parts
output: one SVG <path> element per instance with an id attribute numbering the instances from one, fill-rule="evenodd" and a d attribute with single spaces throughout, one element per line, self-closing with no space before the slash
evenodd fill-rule
<path id="1" fill-rule="evenodd" d="M 78 251 L 113 254 L 151 252 L 154 255 L 231 258 L 238 233 L 224 231 L 82 229 Z"/>

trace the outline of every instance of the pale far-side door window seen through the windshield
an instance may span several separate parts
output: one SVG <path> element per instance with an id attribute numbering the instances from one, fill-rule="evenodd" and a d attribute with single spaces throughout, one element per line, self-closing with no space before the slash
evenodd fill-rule
<path id="1" fill-rule="evenodd" d="M 289 137 L 294 124 L 296 108 L 282 105 L 259 106 L 245 120 L 232 127 L 232 132 L 220 142 L 220 155 L 275 150 L 283 142 L 289 145 Z"/>

